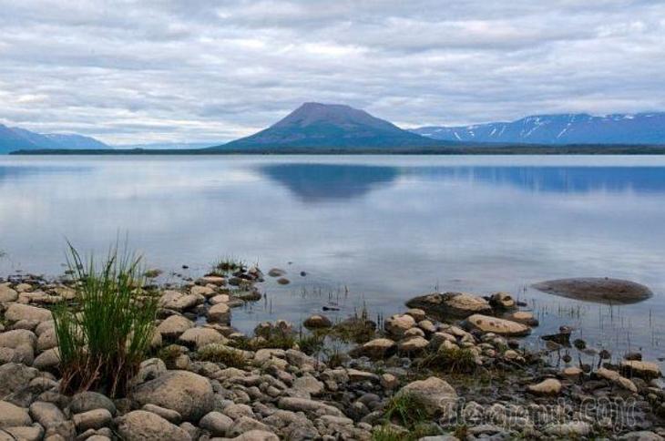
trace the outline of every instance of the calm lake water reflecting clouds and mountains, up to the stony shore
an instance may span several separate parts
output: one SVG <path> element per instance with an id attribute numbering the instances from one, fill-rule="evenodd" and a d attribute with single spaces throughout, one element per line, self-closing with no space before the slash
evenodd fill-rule
<path id="1" fill-rule="evenodd" d="M 508 291 L 534 336 L 565 323 L 663 357 L 663 226 L 658 157 L 0 157 L 0 273 L 59 274 L 66 238 L 105 251 L 118 232 L 167 273 L 229 255 L 286 269 L 291 285 L 234 311 L 244 331 L 329 303 L 388 315 L 435 289 Z M 610 308 L 528 288 L 574 276 L 656 295 Z"/>

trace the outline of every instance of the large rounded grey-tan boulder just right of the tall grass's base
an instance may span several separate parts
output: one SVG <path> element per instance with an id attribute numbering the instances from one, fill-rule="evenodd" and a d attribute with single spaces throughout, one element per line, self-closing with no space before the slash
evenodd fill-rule
<path id="1" fill-rule="evenodd" d="M 175 410 L 187 421 L 199 421 L 214 406 L 212 386 L 205 377 L 187 371 L 168 371 L 134 390 L 140 405 Z"/>

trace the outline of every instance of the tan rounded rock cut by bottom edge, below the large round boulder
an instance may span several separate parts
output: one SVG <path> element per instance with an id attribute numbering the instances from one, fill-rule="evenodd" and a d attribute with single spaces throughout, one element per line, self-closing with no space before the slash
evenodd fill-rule
<path id="1" fill-rule="evenodd" d="M 125 441 L 190 441 L 191 436 L 159 415 L 135 410 L 116 420 L 118 435 Z"/>

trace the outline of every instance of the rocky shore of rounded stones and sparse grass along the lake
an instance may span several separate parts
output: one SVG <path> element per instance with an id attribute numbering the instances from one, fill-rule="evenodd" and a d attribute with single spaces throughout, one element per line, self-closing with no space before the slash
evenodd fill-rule
<path id="1" fill-rule="evenodd" d="M 75 286 L 0 280 L 0 441 L 665 436 L 658 364 L 594 354 L 565 328 L 529 352 L 519 338 L 537 320 L 505 292 L 405 298 L 381 323 L 322 311 L 251 335 L 232 327 L 233 308 L 286 276 L 249 268 L 146 286 L 159 296 L 152 354 L 115 399 L 61 393 L 51 310 L 76 308 Z"/>

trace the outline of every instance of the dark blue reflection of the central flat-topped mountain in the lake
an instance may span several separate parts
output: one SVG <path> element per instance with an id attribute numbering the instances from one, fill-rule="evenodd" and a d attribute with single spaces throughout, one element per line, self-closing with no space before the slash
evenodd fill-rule
<path id="1" fill-rule="evenodd" d="M 306 202 L 358 198 L 399 175 L 396 167 L 304 163 L 271 164 L 261 172 Z"/>

